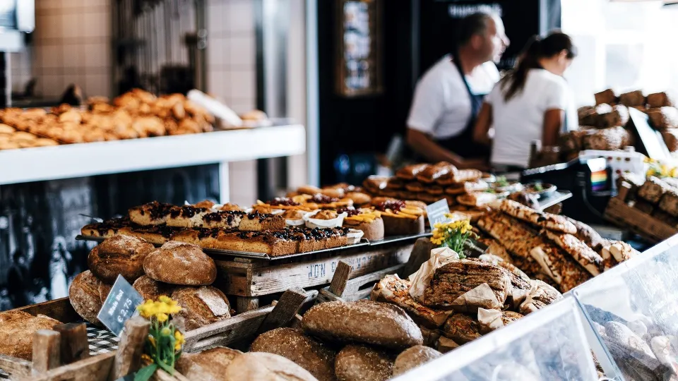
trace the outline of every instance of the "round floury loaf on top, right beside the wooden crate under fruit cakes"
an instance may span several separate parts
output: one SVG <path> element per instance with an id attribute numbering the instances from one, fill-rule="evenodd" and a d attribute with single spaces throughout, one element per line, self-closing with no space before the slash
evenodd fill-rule
<path id="1" fill-rule="evenodd" d="M 143 270 L 158 282 L 183 286 L 206 286 L 217 278 L 214 260 L 200 246 L 177 241 L 169 241 L 148 254 Z"/>

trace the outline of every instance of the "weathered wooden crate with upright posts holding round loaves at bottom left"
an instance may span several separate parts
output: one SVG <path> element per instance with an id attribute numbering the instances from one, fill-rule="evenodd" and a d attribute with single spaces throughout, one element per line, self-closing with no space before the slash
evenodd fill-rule
<path id="1" fill-rule="evenodd" d="M 317 291 L 302 289 L 285 291 L 278 303 L 231 317 L 221 322 L 186 332 L 184 351 L 195 352 L 228 346 L 253 339 L 256 335 L 278 327 L 295 325 L 297 313 L 307 303 L 313 303 Z M 32 314 L 42 314 L 61 321 L 80 321 L 68 298 L 17 308 Z M 89 355 L 85 324 L 70 323 L 40 330 L 33 338 L 33 361 L 0 355 L 0 369 L 11 380 L 117 380 L 136 372 L 141 366 L 141 353 L 150 323 L 143 317 L 133 317 L 125 324 L 125 332 L 117 351 L 97 356 Z M 159 370 L 154 380 L 185 381 L 175 372 L 169 375 Z"/>

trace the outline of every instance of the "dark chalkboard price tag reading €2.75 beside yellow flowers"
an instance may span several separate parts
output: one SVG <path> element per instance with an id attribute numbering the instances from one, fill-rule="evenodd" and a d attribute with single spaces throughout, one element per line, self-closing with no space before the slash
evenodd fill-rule
<path id="1" fill-rule="evenodd" d="M 120 337 L 125 322 L 137 314 L 136 306 L 141 303 L 143 303 L 143 296 L 133 289 L 132 285 L 121 275 L 118 275 L 97 318 L 111 332 Z"/>

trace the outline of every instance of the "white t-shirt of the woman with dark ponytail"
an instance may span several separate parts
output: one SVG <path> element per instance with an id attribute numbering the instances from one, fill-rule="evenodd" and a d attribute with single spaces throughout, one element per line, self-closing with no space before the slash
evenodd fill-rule
<path id="1" fill-rule="evenodd" d="M 494 123 L 492 164 L 528 167 L 530 145 L 533 140 L 542 140 L 544 115 L 548 110 L 564 110 L 567 131 L 578 128 L 571 91 L 561 76 L 544 69 L 532 69 L 523 91 L 513 95 L 509 102 L 505 100 L 502 85 L 503 82 L 497 83 L 485 97 L 485 102 L 492 105 Z"/>

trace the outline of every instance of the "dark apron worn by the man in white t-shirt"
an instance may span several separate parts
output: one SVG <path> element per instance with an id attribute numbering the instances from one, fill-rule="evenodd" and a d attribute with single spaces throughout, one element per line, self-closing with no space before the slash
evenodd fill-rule
<path id="1" fill-rule="evenodd" d="M 452 62 L 459 71 L 459 75 L 461 75 L 461 79 L 464 81 L 464 85 L 466 86 L 468 97 L 470 97 L 471 117 L 468 119 L 468 123 L 466 123 L 466 126 L 460 135 L 446 139 L 439 139 L 436 140 L 436 143 L 466 159 L 472 157 L 489 157 L 490 147 L 484 144 L 476 143 L 475 140 L 473 140 L 475 121 L 478 117 L 478 114 L 480 113 L 480 108 L 482 107 L 482 101 L 485 97 L 485 94 L 473 94 L 473 92 L 471 92 L 471 87 L 468 85 L 468 81 L 466 80 L 466 76 L 461 69 L 461 64 L 458 60 L 453 60 Z"/>

